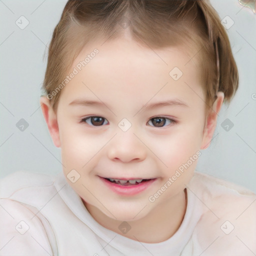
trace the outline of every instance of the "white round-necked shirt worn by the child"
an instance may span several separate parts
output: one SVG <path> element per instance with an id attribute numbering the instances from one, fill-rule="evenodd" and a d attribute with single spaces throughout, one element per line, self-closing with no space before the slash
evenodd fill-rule
<path id="1" fill-rule="evenodd" d="M 195 171 L 179 229 L 144 243 L 96 222 L 62 172 L 17 171 L 0 180 L 0 255 L 253 256 L 256 195 Z"/>

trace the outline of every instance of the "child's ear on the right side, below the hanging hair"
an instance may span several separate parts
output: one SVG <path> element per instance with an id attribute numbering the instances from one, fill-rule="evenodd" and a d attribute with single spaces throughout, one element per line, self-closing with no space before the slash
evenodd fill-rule
<path id="1" fill-rule="evenodd" d="M 215 99 L 212 108 L 208 110 L 208 113 L 205 118 L 204 128 L 203 128 L 203 137 L 200 149 L 205 149 L 210 144 L 212 139 L 216 123 L 217 123 L 217 114 L 220 111 L 221 105 L 223 103 L 224 93 L 222 91 L 217 92 L 217 98 Z"/>

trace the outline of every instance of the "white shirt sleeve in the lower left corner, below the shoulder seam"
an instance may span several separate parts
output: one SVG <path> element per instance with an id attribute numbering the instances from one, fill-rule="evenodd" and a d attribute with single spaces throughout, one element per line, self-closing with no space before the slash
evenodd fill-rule
<path id="1" fill-rule="evenodd" d="M 0 256 L 57 255 L 52 239 L 50 225 L 38 209 L 0 198 Z"/>

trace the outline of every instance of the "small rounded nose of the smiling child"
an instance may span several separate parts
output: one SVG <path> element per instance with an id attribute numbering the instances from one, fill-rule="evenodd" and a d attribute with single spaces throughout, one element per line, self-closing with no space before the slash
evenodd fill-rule
<path id="1" fill-rule="evenodd" d="M 108 157 L 113 161 L 142 161 L 146 157 L 146 146 L 131 129 L 120 131 L 108 145 Z"/>

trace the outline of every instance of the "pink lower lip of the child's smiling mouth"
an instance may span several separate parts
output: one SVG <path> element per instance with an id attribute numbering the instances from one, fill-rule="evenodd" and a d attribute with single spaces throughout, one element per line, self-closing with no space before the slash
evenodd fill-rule
<path id="1" fill-rule="evenodd" d="M 138 194 L 149 187 L 157 178 L 150 179 L 148 181 L 141 182 L 137 185 L 120 185 L 113 183 L 106 178 L 100 177 L 100 179 L 106 184 L 112 191 L 121 195 L 133 195 Z"/>

